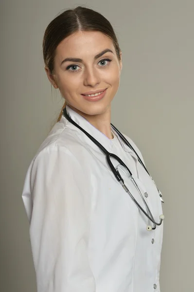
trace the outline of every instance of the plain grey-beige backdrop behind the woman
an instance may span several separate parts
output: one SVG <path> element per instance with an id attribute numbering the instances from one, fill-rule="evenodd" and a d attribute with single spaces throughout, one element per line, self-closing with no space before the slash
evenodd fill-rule
<path id="1" fill-rule="evenodd" d="M 0 291 L 36 291 L 21 192 L 62 106 L 44 72 L 42 38 L 77 4 L 110 20 L 123 51 L 112 123 L 139 146 L 163 193 L 161 292 L 194 291 L 193 0 L 0 2 Z"/>

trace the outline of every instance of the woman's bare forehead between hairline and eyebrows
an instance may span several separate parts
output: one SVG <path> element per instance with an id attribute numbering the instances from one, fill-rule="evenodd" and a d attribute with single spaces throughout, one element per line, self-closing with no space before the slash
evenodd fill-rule
<path id="1" fill-rule="evenodd" d="M 88 57 L 97 55 L 105 49 L 115 51 L 113 41 L 101 32 L 76 32 L 66 37 L 56 48 L 56 57 Z"/>

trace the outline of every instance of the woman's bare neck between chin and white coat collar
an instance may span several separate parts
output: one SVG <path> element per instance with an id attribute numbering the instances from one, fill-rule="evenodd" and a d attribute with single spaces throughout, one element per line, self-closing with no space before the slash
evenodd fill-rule
<path id="1" fill-rule="evenodd" d="M 72 108 L 72 107 L 71 107 Z M 84 112 L 81 112 L 77 109 L 72 108 L 77 113 L 82 115 L 87 121 L 97 128 L 99 131 L 101 131 L 108 139 L 113 139 L 113 135 L 111 133 L 111 126 L 110 126 L 110 120 L 111 120 L 111 106 L 109 106 L 105 112 L 102 114 L 96 114 L 96 115 L 90 115 L 86 114 Z"/>

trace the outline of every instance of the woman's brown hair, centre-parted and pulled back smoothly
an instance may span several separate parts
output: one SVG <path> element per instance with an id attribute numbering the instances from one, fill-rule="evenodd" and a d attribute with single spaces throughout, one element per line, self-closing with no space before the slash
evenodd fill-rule
<path id="1" fill-rule="evenodd" d="M 82 6 L 69 9 L 54 18 L 46 28 L 43 38 L 43 58 L 45 66 L 54 72 L 54 57 L 59 43 L 77 31 L 98 31 L 111 38 L 120 60 L 120 47 L 110 22 L 100 13 Z M 66 101 L 59 114 L 60 121 Z"/>

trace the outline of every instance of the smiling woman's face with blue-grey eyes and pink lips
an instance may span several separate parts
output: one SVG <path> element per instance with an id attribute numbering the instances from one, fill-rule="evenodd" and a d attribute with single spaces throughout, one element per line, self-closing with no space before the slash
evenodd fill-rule
<path id="1" fill-rule="evenodd" d="M 120 83 L 122 62 L 113 42 L 100 32 L 76 32 L 57 47 L 54 74 L 46 70 L 55 88 L 78 113 L 96 115 L 110 110 Z M 86 95 L 102 92 L 89 100 Z M 102 97 L 102 98 L 101 98 Z"/>

